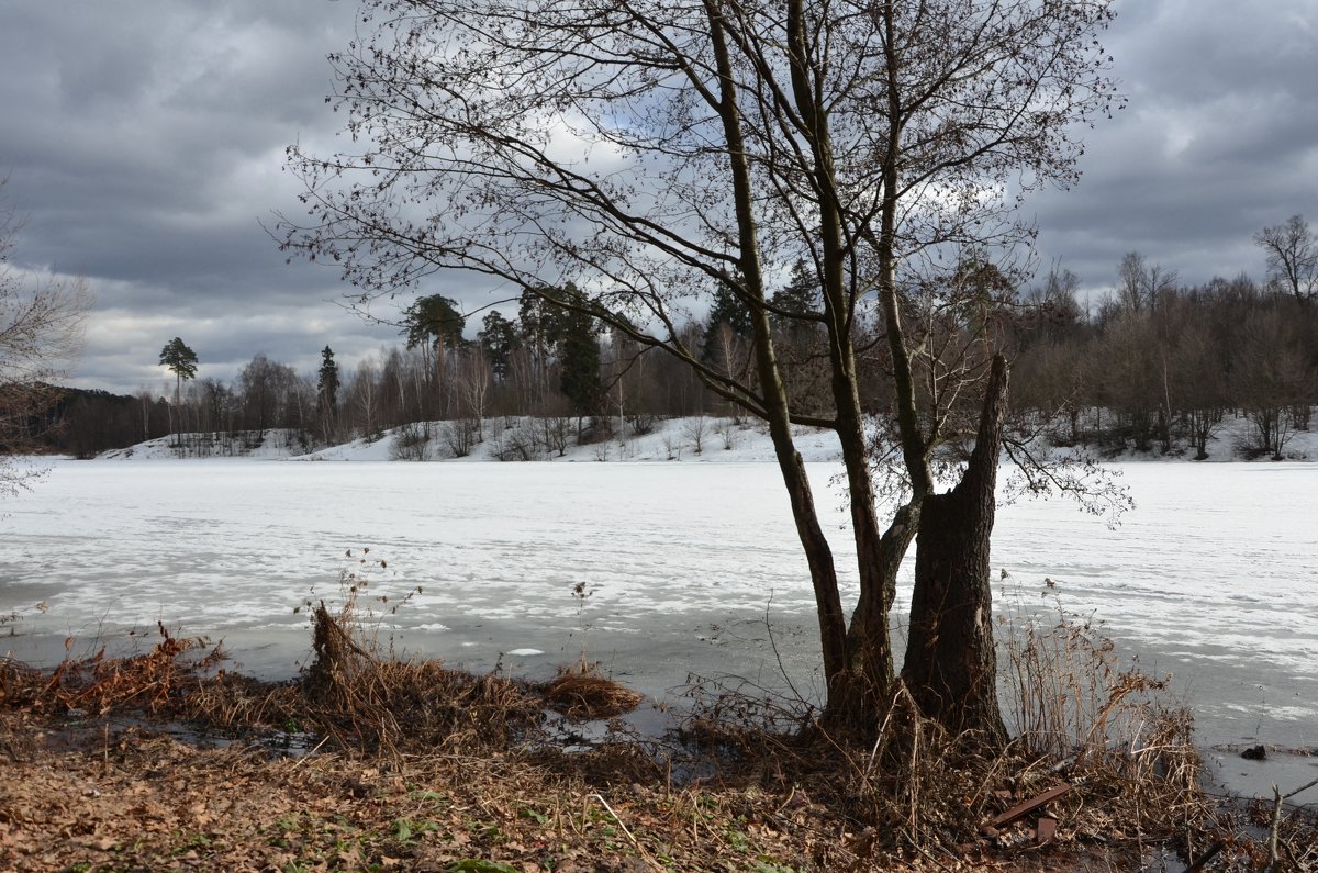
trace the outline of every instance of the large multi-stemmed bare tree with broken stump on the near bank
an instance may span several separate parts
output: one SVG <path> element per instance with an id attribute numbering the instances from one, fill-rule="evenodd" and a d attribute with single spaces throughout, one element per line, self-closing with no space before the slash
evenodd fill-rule
<path id="1" fill-rule="evenodd" d="M 311 222 L 283 222 L 286 248 L 337 264 L 362 303 L 440 269 L 542 298 L 573 282 L 579 295 L 551 303 L 667 351 L 767 422 L 813 583 L 830 723 L 878 728 L 894 682 L 896 570 L 919 529 L 925 558 L 949 547 L 957 572 L 944 595 L 957 609 L 928 601 L 929 645 L 904 675 L 931 715 L 1000 735 L 979 570 L 1007 367 L 962 371 L 981 380 L 961 396 L 983 400 L 982 444 L 925 527 L 946 421 L 917 404 L 921 338 L 903 319 L 908 289 L 934 281 L 949 247 L 1020 243 L 1029 228 L 1014 218 L 1015 194 L 1077 178 L 1074 123 L 1114 99 L 1095 41 L 1110 4 L 364 5 L 366 33 L 332 55 L 364 150 L 290 149 Z M 771 289 L 797 261 L 820 297 L 788 311 Z M 750 377 L 688 342 L 700 289 L 728 289 L 749 313 Z M 875 501 L 858 378 L 854 327 L 871 295 L 908 480 L 891 518 Z M 772 335 L 783 319 L 825 338 L 822 413 L 784 388 Z M 842 446 L 861 583 L 850 621 L 793 423 L 832 429 Z"/>

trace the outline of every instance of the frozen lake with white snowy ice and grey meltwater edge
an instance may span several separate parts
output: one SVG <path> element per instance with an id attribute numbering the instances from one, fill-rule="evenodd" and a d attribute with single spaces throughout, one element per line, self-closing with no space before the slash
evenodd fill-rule
<path id="1" fill-rule="evenodd" d="M 1064 501 L 1002 509 L 995 589 L 998 567 L 1025 604 L 1053 579 L 1064 608 L 1176 674 L 1205 745 L 1318 748 L 1318 464 L 1119 467 L 1137 506 L 1115 531 Z M 846 571 L 836 469 L 811 475 Z M 369 547 L 387 563 L 368 564 L 372 592 L 391 605 L 423 588 L 389 617 L 409 653 L 540 677 L 584 640 L 655 696 L 691 673 L 779 684 L 767 612 L 797 687 L 817 687 L 811 588 L 774 464 L 57 462 L 0 510 L 0 615 L 21 615 L 0 626 L 16 633 L 0 653 L 28 659 L 62 655 L 66 636 L 90 645 L 163 621 L 223 637 L 249 671 L 290 675 L 310 645 L 294 608 L 337 597 Z M 526 650 L 542 654 L 507 654 Z M 1267 789 L 1272 770 L 1223 761 Z M 1293 764 L 1313 778 L 1310 761 Z"/>

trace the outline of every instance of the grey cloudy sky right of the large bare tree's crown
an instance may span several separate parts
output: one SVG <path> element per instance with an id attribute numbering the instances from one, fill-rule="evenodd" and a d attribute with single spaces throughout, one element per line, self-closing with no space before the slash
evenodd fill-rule
<path id="1" fill-rule="evenodd" d="M 1130 98 L 1085 132 L 1078 187 L 1031 202 L 1043 260 L 1095 294 L 1126 252 L 1184 282 L 1249 273 L 1252 235 L 1318 227 L 1318 7 L 1313 0 L 1127 0 L 1104 44 Z"/>

